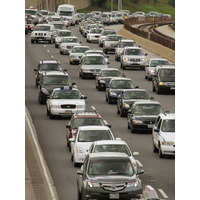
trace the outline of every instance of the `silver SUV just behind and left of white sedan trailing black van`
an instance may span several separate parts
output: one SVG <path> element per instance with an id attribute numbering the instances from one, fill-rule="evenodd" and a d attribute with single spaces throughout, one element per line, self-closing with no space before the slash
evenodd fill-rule
<path id="1" fill-rule="evenodd" d="M 143 52 L 141 47 L 125 47 L 121 56 L 121 68 L 125 70 L 127 67 L 145 69 L 147 54 Z"/>

